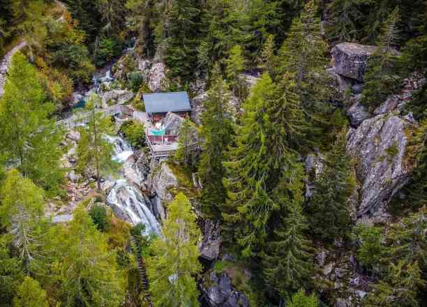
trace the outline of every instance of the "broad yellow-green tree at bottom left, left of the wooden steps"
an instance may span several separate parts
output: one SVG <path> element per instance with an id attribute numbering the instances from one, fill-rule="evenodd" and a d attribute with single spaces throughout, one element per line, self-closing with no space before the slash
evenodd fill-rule
<path id="1" fill-rule="evenodd" d="M 73 212 L 68 225 L 51 227 L 45 234 L 45 282 L 57 287 L 57 301 L 65 306 L 119 306 L 124 280 L 107 237 L 96 230 L 83 207 Z M 46 276 L 46 273 L 42 276 Z"/>

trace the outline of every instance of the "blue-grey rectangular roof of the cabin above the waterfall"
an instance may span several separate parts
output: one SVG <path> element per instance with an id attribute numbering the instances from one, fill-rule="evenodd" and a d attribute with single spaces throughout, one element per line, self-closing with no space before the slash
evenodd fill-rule
<path id="1" fill-rule="evenodd" d="M 190 111 L 190 100 L 186 91 L 168 93 L 144 93 L 145 111 L 149 113 Z"/>

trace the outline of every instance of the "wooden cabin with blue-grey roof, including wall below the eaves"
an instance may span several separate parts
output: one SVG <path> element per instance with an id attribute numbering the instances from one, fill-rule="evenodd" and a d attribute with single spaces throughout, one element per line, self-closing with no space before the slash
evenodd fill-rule
<path id="1" fill-rule="evenodd" d="M 180 117 L 187 117 L 191 112 L 190 99 L 186 91 L 144 93 L 142 101 L 152 123 L 161 121 L 167 112 L 173 112 Z"/>

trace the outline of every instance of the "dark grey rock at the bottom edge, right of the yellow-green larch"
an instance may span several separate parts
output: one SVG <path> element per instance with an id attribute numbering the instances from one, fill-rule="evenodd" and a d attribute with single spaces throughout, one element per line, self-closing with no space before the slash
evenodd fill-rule
<path id="1" fill-rule="evenodd" d="M 202 292 L 210 307 L 249 307 L 245 294 L 234 290 L 232 281 L 227 274 L 216 274 L 214 271 L 207 277 L 207 283 L 211 286 L 204 287 Z"/>

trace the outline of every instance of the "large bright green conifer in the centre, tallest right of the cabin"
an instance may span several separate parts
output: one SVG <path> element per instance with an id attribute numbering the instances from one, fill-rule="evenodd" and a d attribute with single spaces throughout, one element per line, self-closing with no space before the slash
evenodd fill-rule
<path id="1" fill-rule="evenodd" d="M 269 218 L 278 209 L 271 191 L 288 165 L 287 147 L 271 113 L 276 112 L 271 108 L 277 98 L 275 89 L 276 84 L 264 73 L 244 103 L 236 145 L 224 163 L 227 201 L 221 212 L 225 236 L 229 243 L 244 248 L 246 256 L 259 253 L 264 244 Z"/>

